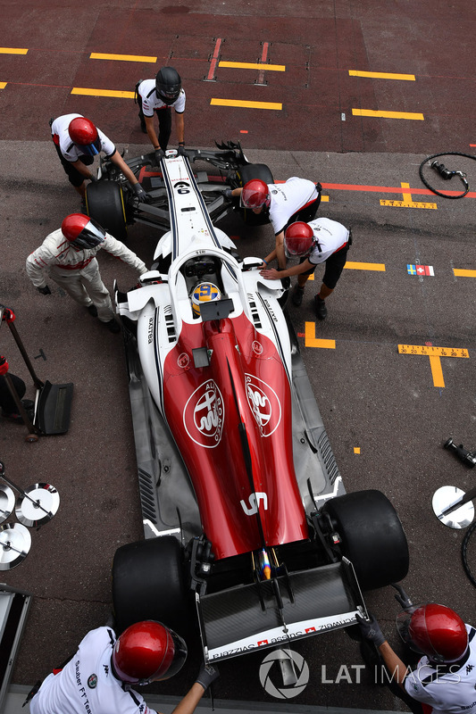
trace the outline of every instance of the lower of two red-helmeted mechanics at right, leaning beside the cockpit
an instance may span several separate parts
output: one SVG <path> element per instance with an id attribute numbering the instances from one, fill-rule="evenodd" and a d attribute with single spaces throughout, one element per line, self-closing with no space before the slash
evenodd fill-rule
<path id="1" fill-rule="evenodd" d="M 284 250 L 288 258 L 299 257 L 298 265 L 285 270 L 265 268 L 260 275 L 263 278 L 278 280 L 297 276 L 297 284 L 291 294 L 291 300 L 299 306 L 303 302 L 305 283 L 319 263 L 325 262 L 326 268 L 319 293 L 314 296 L 314 307 L 319 320 L 327 317 L 326 297 L 334 291 L 338 278 L 347 261 L 347 252 L 352 245 L 352 233 L 349 229 L 329 218 L 316 218 L 309 223 L 292 223 L 284 235 Z"/>

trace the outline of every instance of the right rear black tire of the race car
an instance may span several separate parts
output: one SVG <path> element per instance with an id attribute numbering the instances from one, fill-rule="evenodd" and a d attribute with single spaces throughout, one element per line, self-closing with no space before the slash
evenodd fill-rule
<path id="1" fill-rule="evenodd" d="M 352 562 L 363 590 L 397 583 L 408 573 L 408 544 L 397 511 L 380 491 L 357 491 L 330 499 L 340 549 Z"/>

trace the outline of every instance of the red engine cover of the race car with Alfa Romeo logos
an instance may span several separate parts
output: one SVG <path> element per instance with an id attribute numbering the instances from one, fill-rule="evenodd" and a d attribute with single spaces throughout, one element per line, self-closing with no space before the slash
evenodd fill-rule
<path id="1" fill-rule="evenodd" d="M 196 368 L 192 350 L 204 346 L 210 363 Z M 263 537 L 270 546 L 308 537 L 288 376 L 276 346 L 246 315 L 183 324 L 164 363 L 163 406 L 215 558 L 262 548 Z"/>

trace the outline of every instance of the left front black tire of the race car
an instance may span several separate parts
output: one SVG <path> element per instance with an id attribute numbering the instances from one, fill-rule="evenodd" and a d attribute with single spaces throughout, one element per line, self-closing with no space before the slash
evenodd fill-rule
<path id="1" fill-rule="evenodd" d="M 86 188 L 86 211 L 117 240 L 127 239 L 122 189 L 115 181 L 95 181 Z"/>

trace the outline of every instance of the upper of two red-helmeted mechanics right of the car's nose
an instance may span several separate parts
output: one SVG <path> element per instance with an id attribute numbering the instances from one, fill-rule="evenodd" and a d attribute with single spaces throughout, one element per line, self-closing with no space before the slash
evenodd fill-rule
<path id="1" fill-rule="evenodd" d="M 321 184 L 292 176 L 282 184 L 266 184 L 261 179 L 251 179 L 243 188 L 228 189 L 225 195 L 239 196 L 240 204 L 245 208 L 269 215 L 276 243 L 263 262 L 267 265 L 277 258 L 278 268 L 282 270 L 286 268 L 284 231 L 296 220 L 315 218 L 321 203 L 321 191 Z"/>

